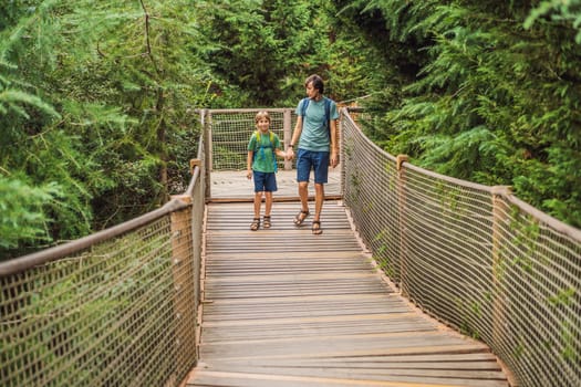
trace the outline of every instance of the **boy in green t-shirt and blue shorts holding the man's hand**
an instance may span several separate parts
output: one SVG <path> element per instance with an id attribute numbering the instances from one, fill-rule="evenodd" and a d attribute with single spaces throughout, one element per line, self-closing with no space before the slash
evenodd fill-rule
<path id="1" fill-rule="evenodd" d="M 272 192 L 277 188 L 277 156 L 287 157 L 280 149 L 280 139 L 276 133 L 270 130 L 270 115 L 268 112 L 258 112 L 255 117 L 257 130 L 248 143 L 247 157 L 247 178 L 255 176 L 255 219 L 250 224 L 250 230 L 257 231 L 260 228 L 260 205 L 262 192 L 267 198 L 263 218 L 263 228 L 269 229 L 270 211 L 272 209 Z"/>

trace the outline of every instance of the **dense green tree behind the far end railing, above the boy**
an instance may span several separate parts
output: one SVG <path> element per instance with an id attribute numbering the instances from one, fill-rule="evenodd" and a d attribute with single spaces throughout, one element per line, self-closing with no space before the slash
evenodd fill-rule
<path id="1" fill-rule="evenodd" d="M 198 49 L 211 64 L 220 94 L 237 106 L 291 106 L 303 95 L 302 81 L 324 69 L 328 35 L 325 1 L 198 1 L 205 36 Z"/>

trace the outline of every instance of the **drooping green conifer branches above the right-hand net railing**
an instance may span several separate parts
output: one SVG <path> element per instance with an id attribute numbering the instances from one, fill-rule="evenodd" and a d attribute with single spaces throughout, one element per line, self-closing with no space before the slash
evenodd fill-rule
<path id="1" fill-rule="evenodd" d="M 400 71 L 403 94 L 392 93 L 398 101 L 384 102 L 388 113 L 372 122 L 377 143 L 446 175 L 513 186 L 581 226 L 578 1 L 343 6 L 364 20 L 363 33 L 416 53 L 414 76 Z"/>

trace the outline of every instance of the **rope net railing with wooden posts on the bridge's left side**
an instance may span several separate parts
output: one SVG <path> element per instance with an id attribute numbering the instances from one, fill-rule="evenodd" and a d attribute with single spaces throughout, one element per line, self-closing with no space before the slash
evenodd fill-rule
<path id="1" fill-rule="evenodd" d="M 180 384 L 197 359 L 201 176 L 158 210 L 0 263 L 0 386 Z"/>

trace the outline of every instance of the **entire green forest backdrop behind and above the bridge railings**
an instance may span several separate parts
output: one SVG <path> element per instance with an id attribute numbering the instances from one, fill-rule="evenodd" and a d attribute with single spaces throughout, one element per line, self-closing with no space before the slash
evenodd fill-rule
<path id="1" fill-rule="evenodd" d="M 0 260 L 159 207 L 197 108 L 312 73 L 388 153 L 581 227 L 580 0 L 2 0 Z"/>

